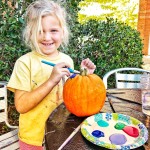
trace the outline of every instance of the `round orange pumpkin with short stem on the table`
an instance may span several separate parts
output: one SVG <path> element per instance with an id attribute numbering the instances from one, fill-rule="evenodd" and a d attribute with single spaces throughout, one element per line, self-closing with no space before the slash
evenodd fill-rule
<path id="1" fill-rule="evenodd" d="M 64 84 L 63 99 L 66 108 L 78 117 L 98 113 L 106 99 L 102 79 L 96 74 L 70 77 Z"/>

